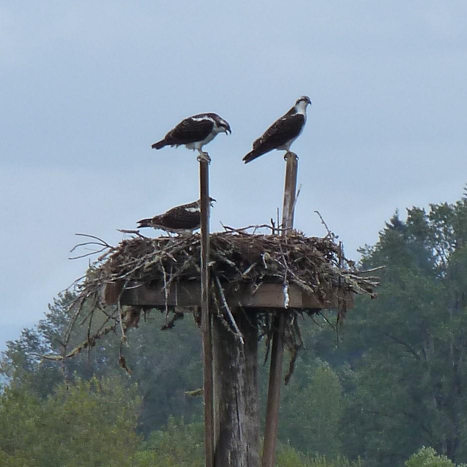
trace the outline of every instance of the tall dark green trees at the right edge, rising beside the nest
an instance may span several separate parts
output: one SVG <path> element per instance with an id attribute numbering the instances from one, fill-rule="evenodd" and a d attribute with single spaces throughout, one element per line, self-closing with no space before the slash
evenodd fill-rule
<path id="1" fill-rule="evenodd" d="M 342 437 L 350 456 L 401 465 L 421 444 L 465 459 L 467 200 L 395 215 L 364 267 L 385 265 L 377 300 L 349 315 Z"/>

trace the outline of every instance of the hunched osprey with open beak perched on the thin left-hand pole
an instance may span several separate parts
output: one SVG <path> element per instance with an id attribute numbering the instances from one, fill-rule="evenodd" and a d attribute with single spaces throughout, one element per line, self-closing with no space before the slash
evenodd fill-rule
<path id="1" fill-rule="evenodd" d="M 198 114 L 182 120 L 164 136 L 164 139 L 151 147 L 161 149 L 164 146 L 185 145 L 188 149 L 196 149 L 200 159 L 209 161 L 209 156 L 203 152 L 203 146 L 212 141 L 218 133 L 227 135 L 227 132 L 232 133 L 230 125 L 217 114 Z"/>

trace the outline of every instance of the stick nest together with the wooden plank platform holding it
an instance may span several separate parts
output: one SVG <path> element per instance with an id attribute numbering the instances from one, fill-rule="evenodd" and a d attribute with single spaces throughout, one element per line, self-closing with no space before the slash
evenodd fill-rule
<path id="1" fill-rule="evenodd" d="M 107 305 L 195 307 L 201 303 L 199 249 L 199 235 L 124 240 L 92 282 L 103 286 Z M 332 239 L 298 232 L 212 234 L 210 271 L 218 300 L 231 307 L 347 310 L 355 293 L 372 294 L 374 286 Z"/>

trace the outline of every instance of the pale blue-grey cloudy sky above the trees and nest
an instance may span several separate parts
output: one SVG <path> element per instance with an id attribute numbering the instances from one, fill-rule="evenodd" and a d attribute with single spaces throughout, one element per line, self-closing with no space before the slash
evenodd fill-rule
<path id="1" fill-rule="evenodd" d="M 195 153 L 150 149 L 193 114 L 232 127 L 205 148 L 213 231 L 276 216 L 282 152 L 241 159 L 302 95 L 296 228 L 325 235 L 318 210 L 355 259 L 396 209 L 459 199 L 466 23 L 464 0 L 3 0 L 0 350 L 85 273 L 75 233 L 199 197 Z"/>

